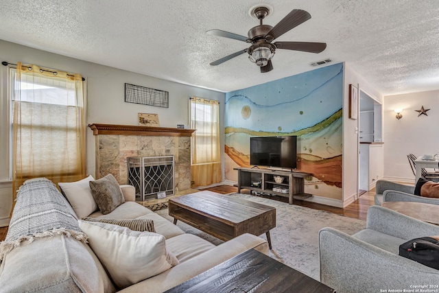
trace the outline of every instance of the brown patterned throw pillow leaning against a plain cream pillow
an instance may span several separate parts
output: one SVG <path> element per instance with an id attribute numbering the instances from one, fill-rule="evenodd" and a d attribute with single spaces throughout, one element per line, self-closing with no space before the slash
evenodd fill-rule
<path id="1" fill-rule="evenodd" d="M 90 185 L 91 194 L 95 199 L 97 207 L 99 207 L 101 213 L 104 215 L 111 213 L 125 202 L 121 187 L 112 174 L 108 174 L 95 181 L 90 181 L 88 184 Z"/>

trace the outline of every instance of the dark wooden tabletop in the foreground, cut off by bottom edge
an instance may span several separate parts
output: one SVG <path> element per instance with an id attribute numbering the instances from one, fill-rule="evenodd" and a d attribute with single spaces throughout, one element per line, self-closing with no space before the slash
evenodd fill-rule
<path id="1" fill-rule="evenodd" d="M 335 290 L 276 259 L 250 249 L 166 292 L 324 293 Z"/>

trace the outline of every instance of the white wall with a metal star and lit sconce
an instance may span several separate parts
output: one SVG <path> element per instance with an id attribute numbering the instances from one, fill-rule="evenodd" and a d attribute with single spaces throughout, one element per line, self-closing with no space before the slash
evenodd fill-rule
<path id="1" fill-rule="evenodd" d="M 424 106 L 427 115 L 420 115 Z M 394 109 L 403 108 L 396 119 Z M 421 156 L 439 152 L 439 91 L 388 95 L 384 97 L 384 176 L 389 180 L 414 183 L 407 154 Z"/>

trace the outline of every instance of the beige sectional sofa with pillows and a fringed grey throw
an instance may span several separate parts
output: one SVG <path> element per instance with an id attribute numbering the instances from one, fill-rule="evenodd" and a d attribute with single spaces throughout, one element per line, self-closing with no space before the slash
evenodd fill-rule
<path id="1" fill-rule="evenodd" d="M 267 242 L 250 234 L 219 246 L 187 234 L 134 202 L 130 185 L 104 214 L 83 194 L 90 181 L 64 184 L 69 200 L 45 178 L 23 184 L 0 244 L 0 292 L 164 292 L 250 248 L 268 253 Z M 155 233 L 89 218 L 137 219 Z"/>

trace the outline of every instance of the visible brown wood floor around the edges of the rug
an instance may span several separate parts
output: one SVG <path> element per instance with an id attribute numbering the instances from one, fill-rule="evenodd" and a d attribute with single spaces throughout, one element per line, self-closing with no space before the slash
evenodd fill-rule
<path id="1" fill-rule="evenodd" d="M 217 187 L 210 187 L 202 190 L 209 190 L 213 192 L 217 192 L 218 194 L 230 194 L 232 192 L 237 192 L 237 187 L 233 187 L 230 185 L 219 185 Z M 244 191 L 242 191 L 244 192 Z M 368 211 L 368 207 L 374 204 L 374 196 L 375 189 L 372 191 L 366 191 L 364 194 L 359 196 L 358 200 L 355 200 L 352 204 L 349 204 L 348 207 L 344 209 L 338 207 L 329 207 L 324 204 L 316 204 L 313 202 L 306 202 L 302 200 L 294 200 L 294 204 L 300 205 L 302 207 L 309 207 L 311 209 L 320 209 L 322 211 L 329 211 L 331 213 L 336 213 L 338 215 L 346 215 L 349 218 L 366 220 L 366 213 Z M 288 202 L 287 198 L 281 196 L 271 196 L 272 200 L 280 200 L 283 202 Z M 6 233 L 8 232 L 8 227 L 0 228 L 0 241 L 3 241 L 6 237 Z"/>

